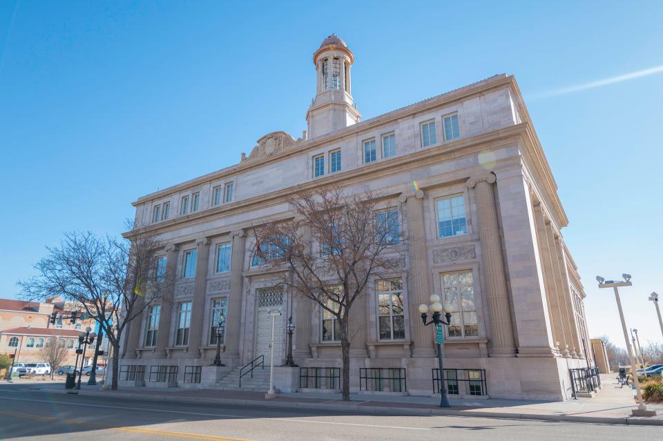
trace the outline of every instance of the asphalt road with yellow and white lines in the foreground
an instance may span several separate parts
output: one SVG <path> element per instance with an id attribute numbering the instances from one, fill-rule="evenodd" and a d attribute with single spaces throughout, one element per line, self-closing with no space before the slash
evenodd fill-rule
<path id="1" fill-rule="evenodd" d="M 119 400 L 0 384 L 0 439 L 16 440 L 619 440 L 663 427 L 498 420 Z"/>

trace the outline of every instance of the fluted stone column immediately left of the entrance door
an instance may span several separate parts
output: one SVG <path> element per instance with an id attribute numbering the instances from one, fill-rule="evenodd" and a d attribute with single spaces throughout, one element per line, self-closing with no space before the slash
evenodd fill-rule
<path id="1" fill-rule="evenodd" d="M 233 231 L 232 254 L 230 258 L 230 293 L 228 295 L 228 318 L 226 320 L 226 351 L 229 357 L 240 357 L 240 328 L 242 324 L 242 293 L 244 278 L 244 255 L 246 254 L 247 233 Z"/>

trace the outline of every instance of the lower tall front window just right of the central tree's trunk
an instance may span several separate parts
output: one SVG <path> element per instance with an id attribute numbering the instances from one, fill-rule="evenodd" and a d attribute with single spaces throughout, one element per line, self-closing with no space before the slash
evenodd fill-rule
<path id="1" fill-rule="evenodd" d="M 378 280 L 378 316 L 380 340 L 405 338 L 405 316 L 403 315 L 403 280 Z"/>

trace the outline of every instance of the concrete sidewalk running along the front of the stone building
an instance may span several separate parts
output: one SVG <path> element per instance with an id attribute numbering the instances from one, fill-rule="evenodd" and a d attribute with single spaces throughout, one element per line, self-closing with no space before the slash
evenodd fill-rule
<path id="1" fill-rule="evenodd" d="M 120 391 L 102 391 L 97 386 L 83 385 L 81 395 L 106 398 L 169 401 L 191 404 L 234 404 L 294 409 L 334 410 L 352 413 L 391 415 L 454 415 L 483 418 L 514 418 L 599 424 L 637 424 L 663 426 L 663 403 L 648 404 L 658 415 L 633 417 L 633 393 L 620 389 L 609 376 L 602 378 L 603 388 L 595 398 L 579 398 L 566 402 L 523 400 L 459 400 L 451 399 L 450 408 L 440 408 L 438 398 L 389 395 L 352 394 L 350 402 L 340 400 L 334 393 L 282 393 L 266 399 L 263 392 L 220 391 L 216 389 L 157 389 L 153 387 L 125 387 Z M 67 393 L 64 384 L 44 384 L 42 391 Z"/>

